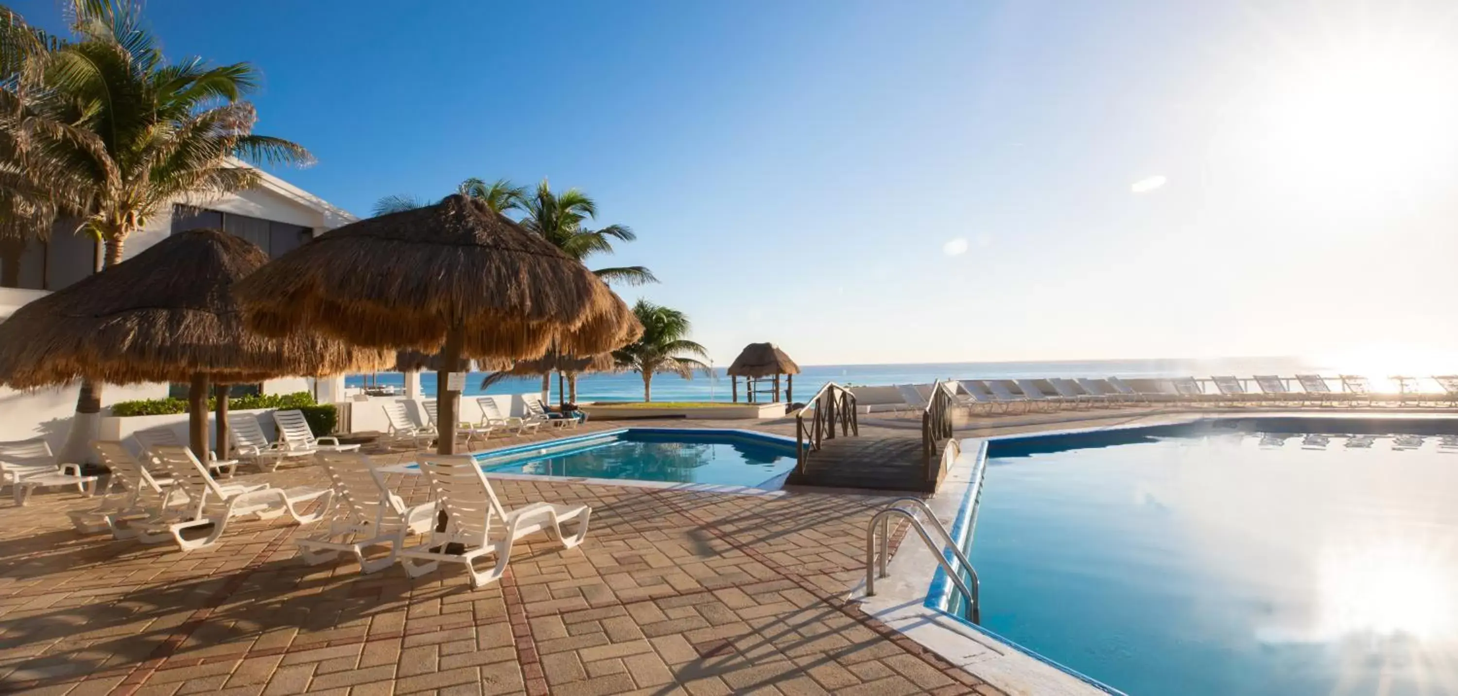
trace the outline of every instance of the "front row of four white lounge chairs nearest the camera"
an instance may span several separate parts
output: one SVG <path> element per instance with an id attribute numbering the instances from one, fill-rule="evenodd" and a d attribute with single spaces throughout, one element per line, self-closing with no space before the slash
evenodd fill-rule
<path id="1" fill-rule="evenodd" d="M 468 455 L 424 457 L 420 473 L 430 484 L 432 500 L 407 506 L 389 489 L 383 471 L 356 451 L 312 452 L 328 474 L 330 487 L 286 489 L 268 482 L 220 482 L 182 445 L 144 445 L 141 457 L 118 441 L 95 442 L 93 448 L 111 474 L 96 508 L 70 514 L 73 525 L 87 534 L 109 531 L 118 540 L 171 541 L 184 552 L 217 544 L 236 518 L 287 514 L 296 524 L 309 524 L 328 517 L 325 527 L 297 541 L 299 556 L 309 565 L 350 553 L 362 572 L 399 560 L 414 578 L 434 571 L 440 562 L 462 563 L 471 585 L 481 587 L 500 579 L 512 544 L 522 537 L 547 533 L 564 549 L 580 544 L 592 512 L 583 505 L 547 502 L 506 509 Z M 90 486 L 83 492 L 95 495 L 98 477 L 83 479 Z M 313 512 L 308 512 L 311 505 Z M 574 534 L 563 533 L 564 522 L 576 524 Z M 420 541 L 405 546 L 410 535 L 418 535 Z M 375 547 L 383 547 L 385 553 L 366 556 Z M 474 562 L 484 556 L 493 556 L 494 563 L 478 571 Z"/>

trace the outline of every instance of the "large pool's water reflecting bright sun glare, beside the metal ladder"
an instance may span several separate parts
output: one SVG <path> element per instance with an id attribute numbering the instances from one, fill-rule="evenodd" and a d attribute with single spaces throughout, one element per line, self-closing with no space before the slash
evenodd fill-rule
<path id="1" fill-rule="evenodd" d="M 1458 693 L 1458 439 L 989 449 L 983 627 L 1131 695 Z"/>

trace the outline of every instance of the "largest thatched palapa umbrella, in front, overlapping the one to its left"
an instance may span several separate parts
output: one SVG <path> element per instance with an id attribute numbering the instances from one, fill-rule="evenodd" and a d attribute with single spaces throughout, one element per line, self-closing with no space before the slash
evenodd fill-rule
<path id="1" fill-rule="evenodd" d="M 239 283 L 251 327 L 319 331 L 362 346 L 531 359 L 553 341 L 612 349 L 612 290 L 586 267 L 465 196 L 325 232 Z M 456 398 L 437 371 L 440 454 Z"/>

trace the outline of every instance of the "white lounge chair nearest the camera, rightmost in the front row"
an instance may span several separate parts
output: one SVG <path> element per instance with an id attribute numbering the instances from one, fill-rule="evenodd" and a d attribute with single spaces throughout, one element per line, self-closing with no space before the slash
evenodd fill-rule
<path id="1" fill-rule="evenodd" d="M 542 531 L 560 540 L 564 549 L 572 549 L 588 535 L 592 508 L 535 502 L 507 511 L 471 457 L 426 457 L 420 463 L 420 471 L 430 480 L 436 505 L 448 515 L 448 521 L 445 531 L 433 528 L 420 546 L 399 552 L 405 573 L 411 578 L 434 571 L 440 562 L 462 563 L 475 588 L 502 578 L 510 562 L 512 544 L 522 537 Z M 564 521 L 576 521 L 577 533 L 564 535 Z M 459 544 L 461 553 L 449 553 L 452 549 L 448 544 Z M 496 556 L 496 565 L 488 571 L 477 571 L 474 560 L 481 556 Z"/>

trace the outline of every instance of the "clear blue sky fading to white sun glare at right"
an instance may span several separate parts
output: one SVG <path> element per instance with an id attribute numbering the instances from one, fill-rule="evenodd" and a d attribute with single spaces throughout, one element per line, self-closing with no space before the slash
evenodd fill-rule
<path id="1" fill-rule="evenodd" d="M 54 26 L 55 4 L 16 3 Z M 719 363 L 1452 356 L 1451 3 L 191 3 L 367 214 L 580 187 Z M 1152 179 L 1163 177 L 1163 179 Z M 1133 193 L 1140 181 L 1163 184 Z M 1455 357 L 1458 359 L 1458 357 Z"/>

